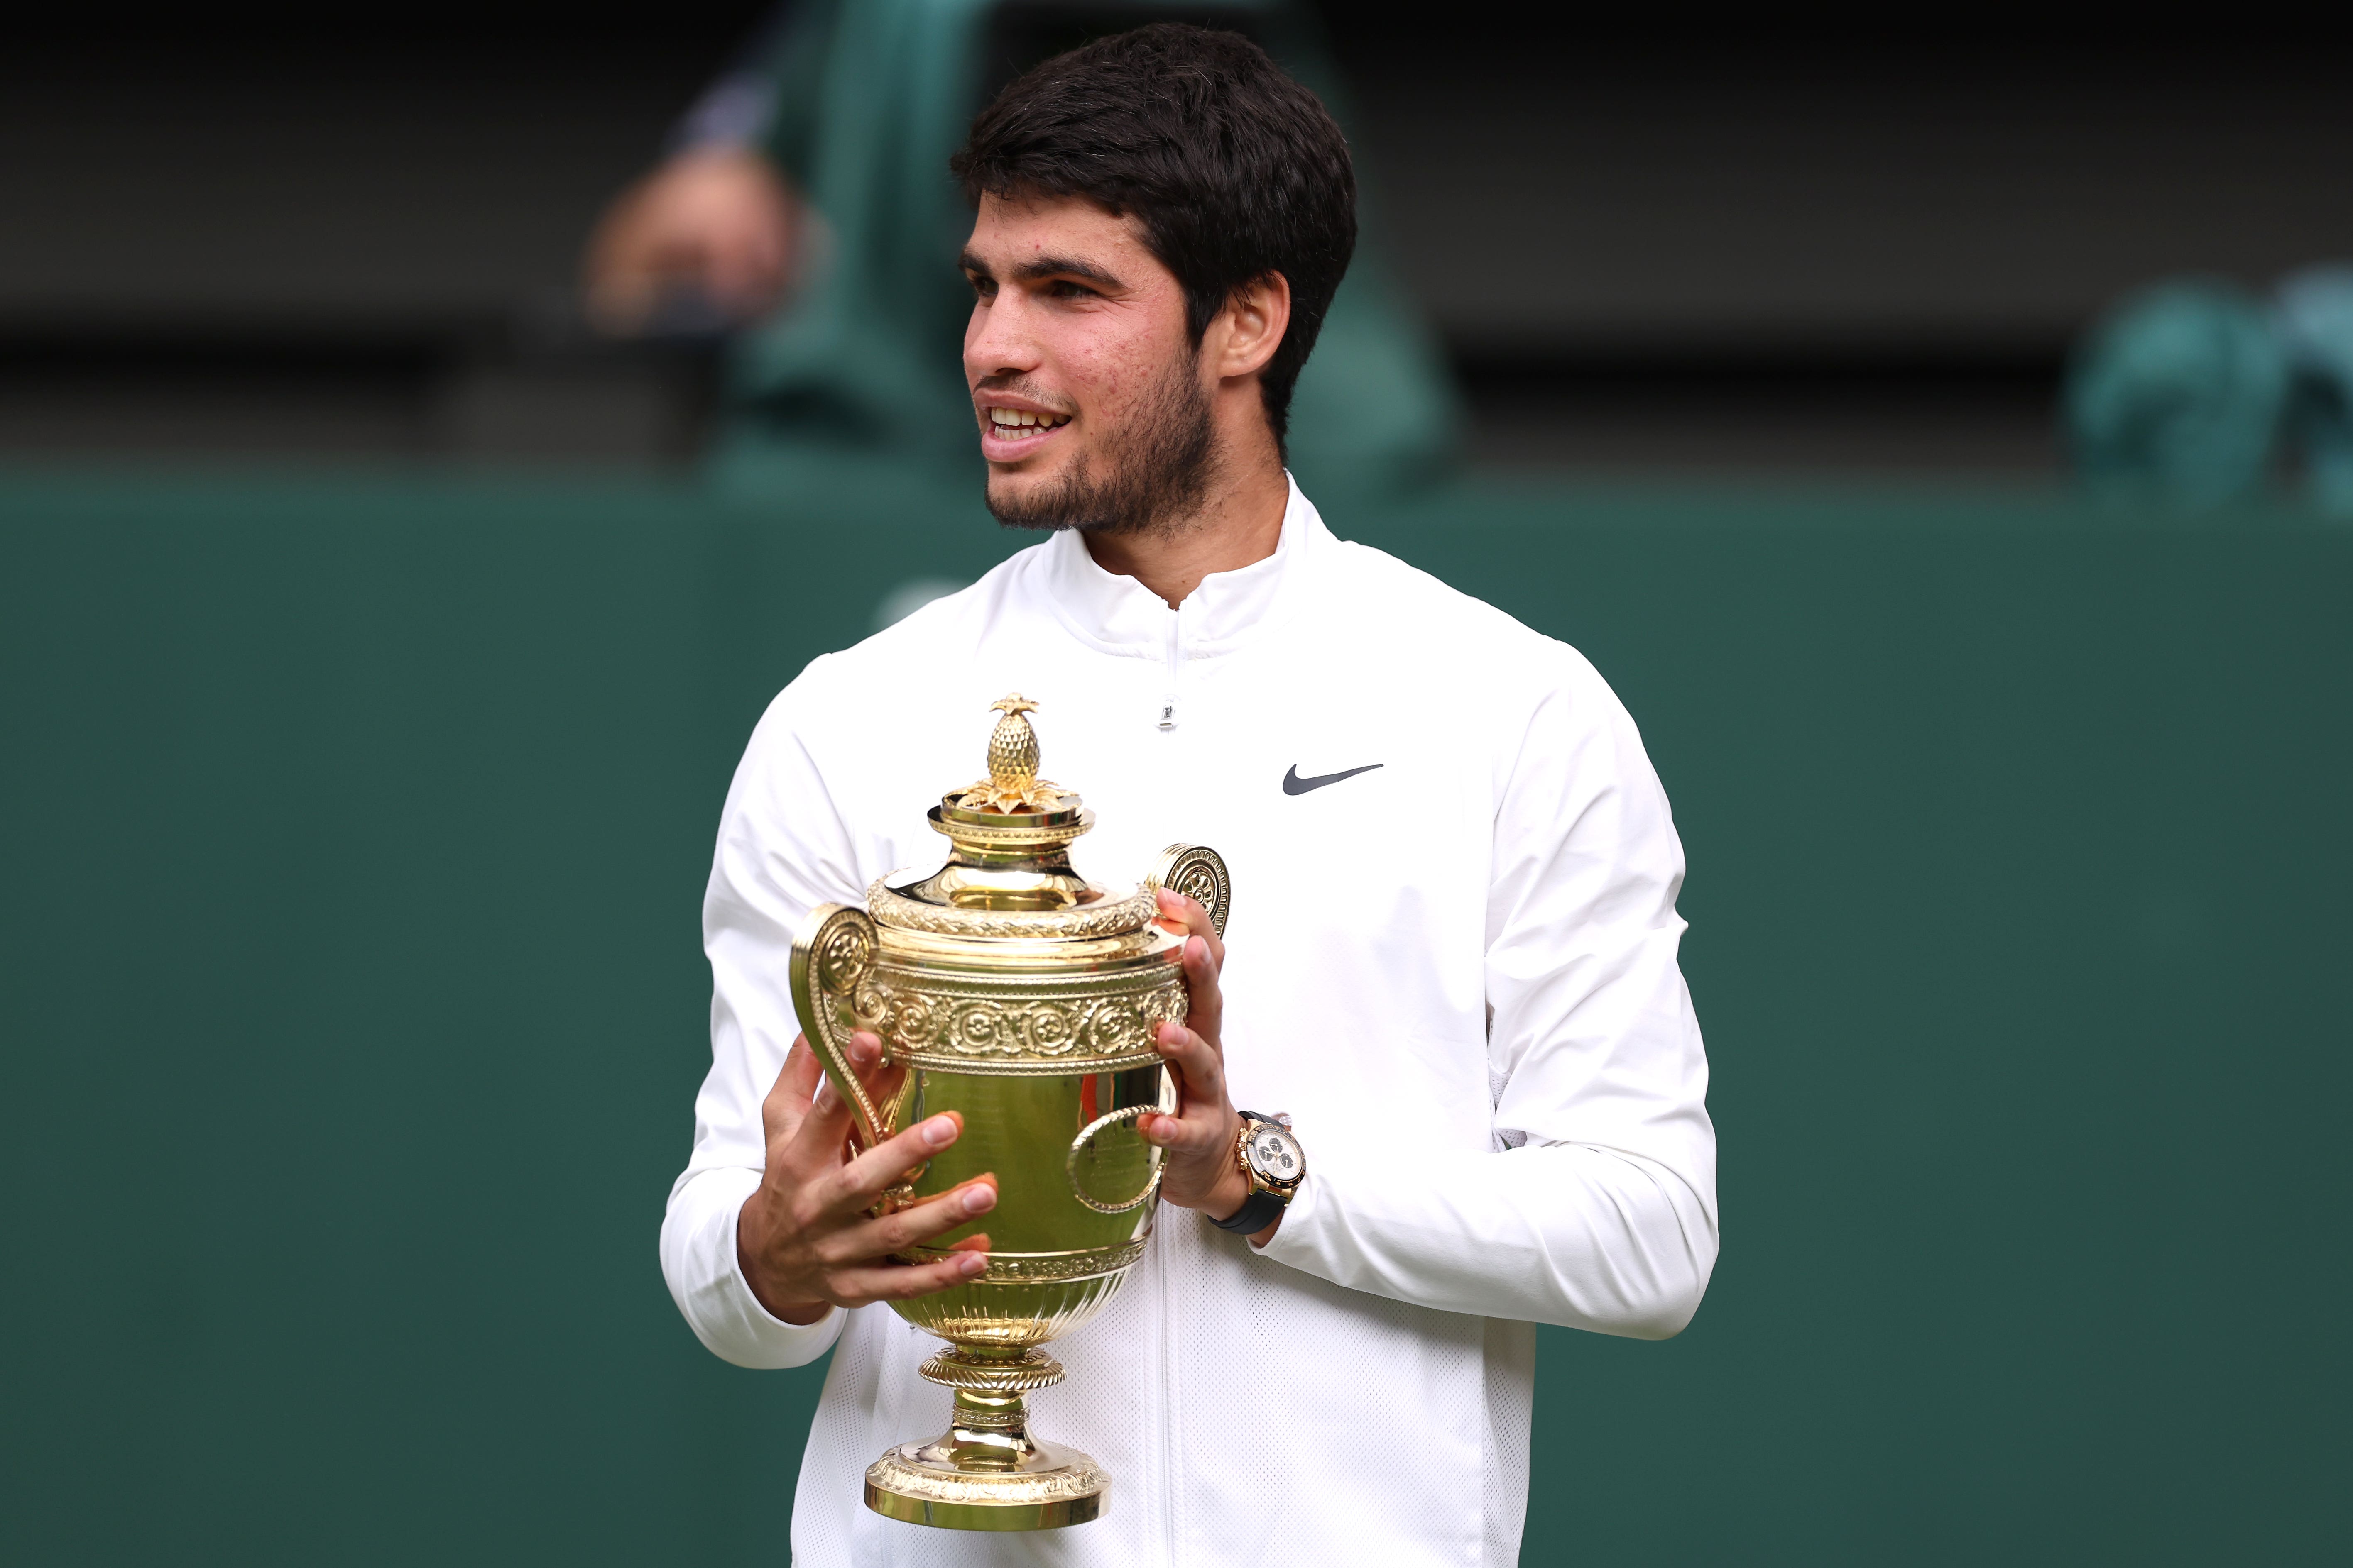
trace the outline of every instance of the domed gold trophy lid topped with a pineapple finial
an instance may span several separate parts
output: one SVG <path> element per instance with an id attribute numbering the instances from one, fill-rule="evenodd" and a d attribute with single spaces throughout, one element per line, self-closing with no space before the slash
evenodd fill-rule
<path id="1" fill-rule="evenodd" d="M 1019 691 L 991 703 L 988 778 L 951 790 L 929 820 L 955 849 L 904 898 L 962 910 L 1071 910 L 1113 898 L 1071 870 L 1071 842 L 1094 827 L 1075 790 L 1038 778 L 1038 703 Z"/>

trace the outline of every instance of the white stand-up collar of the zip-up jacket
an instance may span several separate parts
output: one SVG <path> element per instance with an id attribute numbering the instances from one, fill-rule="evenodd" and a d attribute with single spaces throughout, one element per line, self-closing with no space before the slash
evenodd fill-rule
<path id="1" fill-rule="evenodd" d="M 1054 614 L 1080 642 L 1106 654 L 1165 658 L 1172 642 L 1186 658 L 1233 651 L 1249 632 L 1289 616 L 1301 578 L 1332 543 L 1332 531 L 1299 494 L 1299 482 L 1289 475 L 1285 482 L 1289 501 L 1282 505 L 1275 552 L 1238 571 L 1212 571 L 1176 609 L 1136 578 L 1104 571 L 1087 555 L 1078 529 L 1054 534 L 1045 543 L 1042 578 Z"/>

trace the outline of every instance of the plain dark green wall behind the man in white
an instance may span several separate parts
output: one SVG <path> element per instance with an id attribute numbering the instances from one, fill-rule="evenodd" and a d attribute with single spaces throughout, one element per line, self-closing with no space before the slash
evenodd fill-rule
<path id="1" fill-rule="evenodd" d="M 654 1260 L 751 719 L 969 496 L 0 475 L 0 1556 L 786 1556 Z M 1579 644 L 1692 858 L 1725 1255 L 1546 1331 L 1525 1563 L 2322 1561 L 2353 531 L 1341 512 Z M 842 1476 L 854 1486 L 854 1476 Z"/>

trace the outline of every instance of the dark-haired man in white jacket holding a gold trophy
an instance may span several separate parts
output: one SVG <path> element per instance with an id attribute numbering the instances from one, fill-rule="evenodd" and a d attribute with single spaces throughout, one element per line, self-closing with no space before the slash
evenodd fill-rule
<path id="1" fill-rule="evenodd" d="M 1355 237 L 1313 94 L 1231 33 L 1144 28 L 1007 87 L 955 169 L 988 505 L 1049 536 L 819 658 L 753 733 L 704 914 L 713 1067 L 671 1291 L 741 1366 L 835 1347 L 793 1505 L 812 1568 L 1513 1563 L 1534 1324 L 1673 1335 L 1715 1260 L 1666 797 L 1584 658 L 1337 541 L 1289 484 L 1289 388 Z M 986 1237 L 889 1253 L 995 1192 L 866 1218 L 958 1126 L 842 1164 L 786 952 L 812 905 L 939 860 L 922 809 L 1012 689 L 1101 818 L 1096 877 L 1198 839 L 1235 900 L 1219 943 L 1162 898 L 1193 1013 L 1160 1032 L 1181 1107 L 1144 1133 L 1193 1213 L 1035 1396 L 1111 1505 L 974 1537 L 868 1514 L 859 1476 L 936 1425 L 929 1340 L 871 1302 L 976 1272 Z M 1289 1112 L 1287 1204 L 1235 1164 L 1235 1107 Z"/>

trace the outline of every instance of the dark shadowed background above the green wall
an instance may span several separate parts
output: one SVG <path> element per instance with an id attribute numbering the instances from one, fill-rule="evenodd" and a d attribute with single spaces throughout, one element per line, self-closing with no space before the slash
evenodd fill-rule
<path id="1" fill-rule="evenodd" d="M 760 14 L 28 26 L 0 59 L 0 451 L 685 461 L 708 348 L 593 339 L 579 249 Z M 2353 256 L 2353 56 L 2285 7 L 2132 35 L 1322 14 L 1480 463 L 2047 480 L 2108 301 Z"/>

